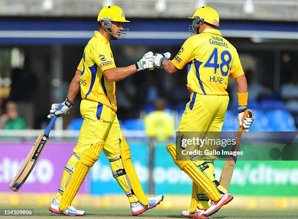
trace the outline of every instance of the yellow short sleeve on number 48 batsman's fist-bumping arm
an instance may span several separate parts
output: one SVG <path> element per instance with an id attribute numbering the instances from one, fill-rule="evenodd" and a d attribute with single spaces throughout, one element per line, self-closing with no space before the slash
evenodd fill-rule
<path id="1" fill-rule="evenodd" d="M 194 46 L 192 45 L 191 39 L 188 38 L 182 45 L 178 54 L 171 61 L 177 69 L 183 69 L 184 66 L 193 59 Z"/>

